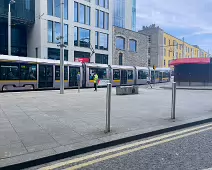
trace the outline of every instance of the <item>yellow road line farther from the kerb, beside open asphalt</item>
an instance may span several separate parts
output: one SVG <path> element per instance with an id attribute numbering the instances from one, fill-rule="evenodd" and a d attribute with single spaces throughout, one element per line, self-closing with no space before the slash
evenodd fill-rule
<path id="1" fill-rule="evenodd" d="M 174 141 L 174 140 L 177 140 L 177 139 L 181 139 L 181 138 L 184 138 L 184 137 L 187 137 L 187 136 L 191 136 L 191 135 L 194 135 L 194 134 L 197 134 L 197 133 L 201 133 L 201 132 L 204 132 L 204 131 L 207 131 L 207 130 L 212 130 L 212 127 L 202 129 L 202 130 L 199 130 L 199 131 L 190 132 L 190 133 L 187 133 L 187 134 L 184 134 L 184 135 L 179 135 L 179 136 L 169 138 L 169 139 L 165 139 L 165 140 L 162 140 L 162 141 L 158 141 L 158 142 L 155 142 L 155 143 L 147 144 L 147 145 L 144 145 L 144 146 L 141 146 L 141 147 L 138 147 L 138 148 L 129 149 L 129 150 L 126 150 L 126 151 L 123 151 L 123 152 L 119 152 L 119 153 L 116 153 L 116 154 L 105 156 L 103 158 L 98 158 L 98 159 L 95 159 L 95 160 L 92 160 L 92 161 L 89 161 L 89 162 L 85 162 L 85 163 L 82 163 L 82 164 L 79 164 L 79 165 L 72 166 L 70 168 L 66 168 L 66 170 L 76 170 L 76 169 L 84 168 L 84 167 L 87 167 L 89 165 L 93 165 L 95 163 L 99 163 L 99 162 L 102 162 L 102 161 L 106 161 L 108 159 L 123 156 L 123 155 L 129 154 L 129 153 L 132 153 L 132 152 L 136 152 L 136 151 L 139 151 L 139 150 L 143 150 L 143 149 L 146 149 L 146 148 L 149 148 L 149 147 L 152 147 L 152 146 L 168 143 L 168 142 L 171 142 L 171 141 Z"/>

